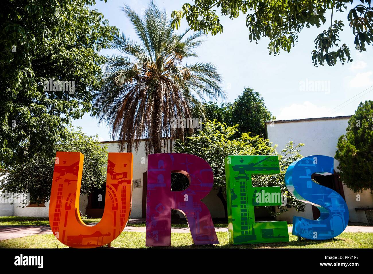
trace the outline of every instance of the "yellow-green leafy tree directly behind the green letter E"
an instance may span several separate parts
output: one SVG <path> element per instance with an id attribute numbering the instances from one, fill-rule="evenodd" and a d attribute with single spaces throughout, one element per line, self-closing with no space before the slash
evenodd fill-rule
<path id="1" fill-rule="evenodd" d="M 294 147 L 293 143 L 289 142 L 278 154 L 269 140 L 258 135 L 251 137 L 248 133 L 243 133 L 241 137 L 232 139 L 237 131 L 237 125 L 227 126 L 216 120 L 209 121 L 196 135 L 186 137 L 185 142 L 176 141 L 174 148 L 176 152 L 197 155 L 210 164 L 214 174 L 214 188 L 218 190 L 217 196 L 222 201 L 225 211 L 227 209 L 225 157 L 228 155 L 279 155 L 280 173 L 270 176 L 253 176 L 253 186 L 280 186 L 281 192 L 287 196 L 286 207 L 279 206 L 280 213 L 290 207 L 304 211 L 304 205 L 289 193 L 284 183 L 285 172 L 289 164 L 302 157 L 298 148 L 303 144 Z M 176 185 L 177 182 L 173 183 Z M 272 210 L 272 207 L 269 207 L 269 210 Z M 275 212 L 271 213 L 276 215 Z M 227 215 L 227 211 L 225 214 Z"/>

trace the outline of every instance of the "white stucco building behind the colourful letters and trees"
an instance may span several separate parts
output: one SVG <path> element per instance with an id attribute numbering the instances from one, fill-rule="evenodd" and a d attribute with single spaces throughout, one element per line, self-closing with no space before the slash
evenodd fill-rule
<path id="1" fill-rule="evenodd" d="M 278 145 L 278 151 L 285 147 L 286 143 L 293 141 L 295 145 L 304 143 L 301 147 L 303 156 L 309 155 L 327 155 L 335 156 L 338 138 L 344 135 L 347 128 L 347 122 L 351 116 L 325 117 L 299 120 L 277 120 L 266 122 L 266 138 L 270 139 L 273 145 Z M 107 146 L 108 152 L 119 152 L 117 141 L 101 142 L 101 146 Z M 147 185 L 147 156 L 145 155 L 145 141 L 141 141 L 138 151 L 133 151 L 133 180 L 134 187 L 132 192 L 132 211 L 131 218 L 145 217 L 146 185 Z M 373 208 L 373 195 L 369 191 L 354 193 L 347 186 L 343 185 L 338 176 L 338 162 L 334 162 L 335 175 L 328 177 L 330 188 L 333 188 L 342 197 L 345 198 L 350 213 L 350 221 L 368 223 L 367 211 L 363 208 Z M 84 168 L 84 166 L 83 166 Z M 327 176 L 325 176 L 327 177 Z M 102 190 L 101 190 L 102 191 Z M 104 192 L 101 192 L 104 194 Z M 90 217 L 102 215 L 104 202 L 97 203 L 95 197 L 97 193 L 91 195 L 81 195 L 79 200 L 79 209 L 82 214 Z M 360 195 L 360 201 L 357 199 Z M 105 196 L 105 195 L 103 195 Z M 217 191 L 212 190 L 209 195 L 202 200 L 211 212 L 214 218 L 225 217 L 225 209 L 221 200 L 217 196 Z M 256 220 L 261 218 L 265 220 L 266 212 L 264 208 L 259 207 L 256 210 Z M 360 210 L 356 210 L 360 209 Z M 297 212 L 289 209 L 287 212 L 279 215 L 277 220 L 284 220 L 292 223 L 294 215 L 302 216 L 308 219 L 314 219 L 317 212 L 311 205 L 305 206 L 304 212 Z M 372 214 L 370 211 L 369 214 Z M 37 216 L 48 217 L 48 202 L 41 207 L 19 207 L 19 204 L 0 203 L 0 216 Z"/>

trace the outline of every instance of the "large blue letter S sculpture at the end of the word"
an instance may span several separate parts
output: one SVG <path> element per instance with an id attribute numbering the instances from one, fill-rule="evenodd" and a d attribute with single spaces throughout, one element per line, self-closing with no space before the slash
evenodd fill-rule
<path id="1" fill-rule="evenodd" d="M 292 163 L 285 173 L 285 184 L 298 200 L 320 210 L 320 218 L 308 220 L 293 217 L 293 235 L 310 240 L 327 240 L 341 234 L 348 223 L 347 204 L 334 190 L 314 183 L 313 173 L 334 172 L 334 159 L 325 155 L 312 155 Z"/>

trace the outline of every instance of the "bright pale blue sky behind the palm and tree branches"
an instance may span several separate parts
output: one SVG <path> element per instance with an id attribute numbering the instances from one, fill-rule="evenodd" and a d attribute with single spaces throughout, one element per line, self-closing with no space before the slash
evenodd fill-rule
<path id="1" fill-rule="evenodd" d="M 155 2 L 170 15 L 188 0 Z M 110 25 L 117 26 L 126 36 L 137 40 L 131 23 L 120 10 L 125 4 L 141 14 L 146 9 L 148 1 L 97 1 L 94 8 L 104 14 Z M 244 87 L 258 91 L 263 96 L 267 108 L 278 120 L 351 115 L 360 101 L 373 98 L 373 92 L 369 92 L 373 89 L 373 48 L 368 45 L 368 52 L 362 53 L 355 50 L 354 35 L 346 18 L 346 12 L 335 13 L 333 16 L 333 20 L 342 20 L 345 23 L 341 41 L 348 44 L 352 52 L 353 62 L 343 66 L 337 63 L 334 67 L 315 67 L 311 61 L 314 39 L 330 26 L 330 19 L 327 19 L 321 28 L 303 29 L 298 44 L 290 53 L 281 52 L 279 56 L 273 56 L 267 51 L 267 38 L 262 38 L 258 44 L 250 43 L 249 32 L 245 26 L 246 16 L 242 14 L 234 20 L 221 16 L 223 33 L 204 37 L 204 44 L 196 50 L 198 59 L 189 59 L 188 63 L 198 61 L 215 64 L 222 75 L 228 101 L 234 101 Z M 180 29 L 184 30 L 187 27 L 186 21 L 183 21 Z M 100 54 L 113 52 L 101 50 Z M 365 89 L 367 90 L 363 92 Z M 360 92 L 362 93 L 358 95 Z M 352 100 L 339 106 L 350 98 Z M 109 127 L 98 126 L 97 119 L 90 117 L 89 114 L 75 120 L 73 125 L 81 126 L 89 135 L 97 133 L 101 141 L 111 140 Z"/>

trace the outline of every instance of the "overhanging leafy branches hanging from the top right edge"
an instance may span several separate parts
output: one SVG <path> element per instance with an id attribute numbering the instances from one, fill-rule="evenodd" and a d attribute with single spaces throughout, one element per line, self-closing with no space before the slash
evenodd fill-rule
<path id="1" fill-rule="evenodd" d="M 268 37 L 269 54 L 279 54 L 280 50 L 290 51 L 298 42 L 298 34 L 304 27 L 330 24 L 330 27 L 315 39 L 316 50 L 312 51 L 312 61 L 317 64 L 334 66 L 339 60 L 342 64 L 352 62 L 350 48 L 341 42 L 339 35 L 344 23 L 333 20 L 337 12 L 347 10 L 352 0 L 294 0 L 294 1 L 259 1 L 259 0 L 194 0 L 194 4 L 185 3 L 181 10 L 172 12 L 172 26 L 178 28 L 181 19 L 186 18 L 189 26 L 195 31 L 203 30 L 216 35 L 223 32 L 217 10 L 222 16 L 237 18 L 240 13 L 246 14 L 246 26 L 250 32 L 250 41 L 258 43 L 260 38 Z M 357 50 L 366 51 L 366 45 L 373 41 L 373 7 L 370 0 L 352 7 L 347 20 L 355 36 Z M 330 18 L 326 17 L 331 11 Z M 329 23 L 330 22 L 330 23 Z"/>

